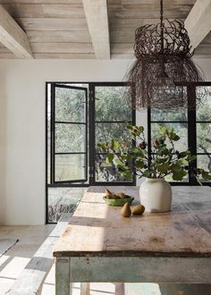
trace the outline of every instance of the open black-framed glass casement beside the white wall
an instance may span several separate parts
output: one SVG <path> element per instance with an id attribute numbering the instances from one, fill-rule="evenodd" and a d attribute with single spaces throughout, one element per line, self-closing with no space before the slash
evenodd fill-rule
<path id="1" fill-rule="evenodd" d="M 52 182 L 86 182 L 88 91 L 56 83 L 52 86 Z"/>

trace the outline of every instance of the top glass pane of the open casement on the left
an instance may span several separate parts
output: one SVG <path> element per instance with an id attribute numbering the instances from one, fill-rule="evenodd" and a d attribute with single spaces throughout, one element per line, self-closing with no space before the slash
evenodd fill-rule
<path id="1" fill-rule="evenodd" d="M 55 87 L 55 121 L 86 121 L 86 97 L 84 90 Z"/>

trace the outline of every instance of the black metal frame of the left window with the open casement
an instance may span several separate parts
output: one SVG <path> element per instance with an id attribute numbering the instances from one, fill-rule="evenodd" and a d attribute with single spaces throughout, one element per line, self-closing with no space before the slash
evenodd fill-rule
<path id="1" fill-rule="evenodd" d="M 73 88 L 72 84 L 86 84 L 89 86 L 89 93 L 88 93 L 88 104 L 86 106 L 87 109 L 87 118 L 86 122 L 89 122 L 89 128 L 88 128 L 88 123 L 87 123 L 87 143 L 89 143 L 89 153 L 87 152 L 88 159 L 89 159 L 89 171 L 88 171 L 88 180 L 89 183 L 85 182 L 76 182 L 76 181 L 55 181 L 54 178 L 54 155 L 55 155 L 55 138 L 54 136 L 52 137 L 52 134 L 54 133 L 55 129 L 55 101 L 54 101 L 54 87 L 55 85 L 59 85 L 59 87 L 65 87 L 65 85 L 71 86 Z M 48 183 L 48 175 L 47 175 L 47 88 L 48 85 L 51 87 L 51 119 L 53 116 L 54 120 L 51 120 L 51 157 L 50 157 L 50 164 L 51 164 L 51 171 L 50 171 L 50 183 Z M 113 186 L 121 186 L 121 185 L 127 185 L 127 186 L 132 186 L 136 184 L 136 177 L 134 175 L 133 181 L 131 182 L 124 182 L 124 181 L 118 181 L 118 182 L 113 182 L 113 181 L 96 181 L 96 171 L 95 171 L 95 157 L 96 157 L 96 148 L 95 148 L 95 87 L 97 86 L 105 86 L 105 87 L 112 87 L 112 86 L 126 86 L 125 82 L 86 82 L 86 81 L 76 81 L 76 82 L 70 82 L 70 81 L 46 81 L 46 212 L 47 212 L 47 189 L 48 188 L 57 188 L 57 187 L 73 187 L 73 188 L 80 188 L 80 187 L 89 187 L 89 186 L 98 186 L 98 185 L 113 185 Z M 80 88 L 80 87 L 79 87 Z M 78 89 L 78 86 L 77 86 Z M 135 124 L 136 122 L 136 112 L 135 110 L 131 110 L 132 114 L 132 124 Z M 86 145 L 88 148 L 88 144 Z M 53 155 L 52 155 L 53 152 Z"/>

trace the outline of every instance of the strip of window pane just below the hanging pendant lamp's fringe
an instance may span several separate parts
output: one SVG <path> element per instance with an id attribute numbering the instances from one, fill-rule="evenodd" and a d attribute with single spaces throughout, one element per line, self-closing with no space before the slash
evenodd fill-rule
<path id="1" fill-rule="evenodd" d="M 162 110 L 151 108 L 151 121 L 178 121 L 187 122 L 188 121 L 188 111 L 187 108 L 179 107 L 177 112 L 163 112 Z"/>

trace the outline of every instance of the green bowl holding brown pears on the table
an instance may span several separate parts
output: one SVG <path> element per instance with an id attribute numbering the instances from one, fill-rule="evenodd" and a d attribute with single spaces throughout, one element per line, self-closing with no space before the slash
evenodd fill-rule
<path id="1" fill-rule="evenodd" d="M 123 192 L 111 192 L 110 190 L 105 190 L 105 204 L 109 206 L 123 206 L 125 203 L 131 205 L 133 197 L 125 195 Z"/>

